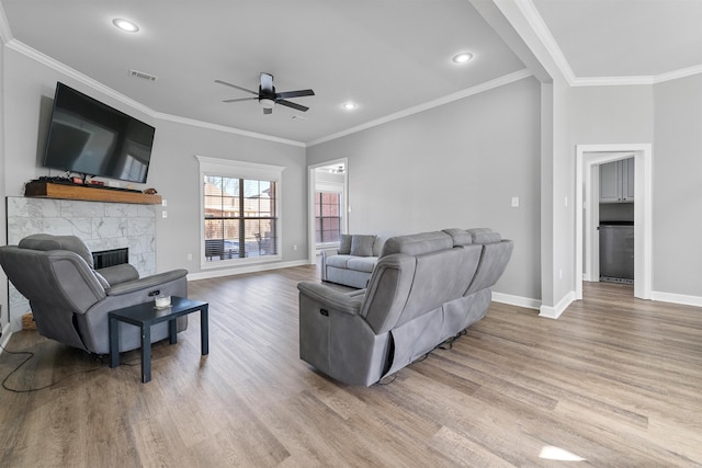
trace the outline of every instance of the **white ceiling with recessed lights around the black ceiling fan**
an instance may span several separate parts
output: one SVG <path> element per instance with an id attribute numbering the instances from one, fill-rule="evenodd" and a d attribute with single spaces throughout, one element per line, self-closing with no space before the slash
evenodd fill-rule
<path id="1" fill-rule="evenodd" d="M 0 4 L 12 48 L 37 50 L 154 114 L 308 144 L 519 76 L 524 65 L 473 8 L 488 1 Z M 565 56 L 562 66 L 577 78 L 658 77 L 702 66 L 702 1 L 516 1 L 543 19 Z M 114 18 L 135 21 L 139 33 L 116 30 Z M 453 64 L 451 57 L 464 50 L 475 58 Z M 158 79 L 131 78 L 131 69 Z M 256 101 L 222 102 L 249 94 L 214 80 L 256 90 L 261 71 L 274 75 L 278 91 L 314 89 L 314 96 L 291 100 L 310 110 L 278 105 L 263 115 Z M 359 104 L 353 112 L 341 109 L 349 100 Z"/>

